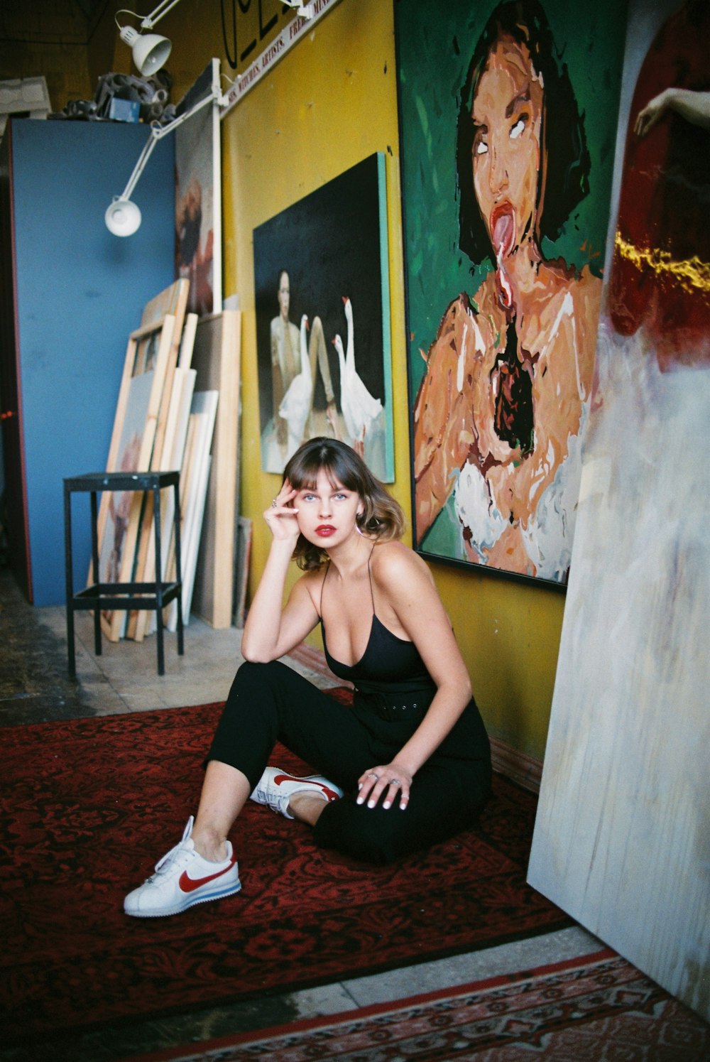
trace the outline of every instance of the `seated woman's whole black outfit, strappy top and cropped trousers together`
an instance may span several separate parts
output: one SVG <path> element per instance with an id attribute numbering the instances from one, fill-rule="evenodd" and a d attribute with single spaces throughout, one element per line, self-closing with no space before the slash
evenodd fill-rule
<path id="1" fill-rule="evenodd" d="M 436 686 L 414 643 L 387 630 L 374 602 L 367 647 L 352 666 L 330 655 L 322 627 L 328 665 L 354 684 L 352 707 L 278 661 L 243 664 L 207 759 L 236 767 L 254 788 L 281 741 L 345 790 L 324 808 L 315 843 L 366 862 L 391 862 L 471 825 L 490 793 L 490 746 L 472 698 L 415 774 L 405 810 L 397 800 L 386 810 L 381 801 L 375 808 L 356 803 L 360 775 L 394 759 L 423 719 Z"/>

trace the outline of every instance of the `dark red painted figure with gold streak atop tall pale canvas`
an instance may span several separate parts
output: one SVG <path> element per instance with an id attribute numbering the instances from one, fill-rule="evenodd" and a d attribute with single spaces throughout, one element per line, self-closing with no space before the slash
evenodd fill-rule
<path id="1" fill-rule="evenodd" d="M 641 325 L 662 372 L 710 363 L 710 7 L 692 0 L 663 25 L 631 103 L 609 310 Z"/>

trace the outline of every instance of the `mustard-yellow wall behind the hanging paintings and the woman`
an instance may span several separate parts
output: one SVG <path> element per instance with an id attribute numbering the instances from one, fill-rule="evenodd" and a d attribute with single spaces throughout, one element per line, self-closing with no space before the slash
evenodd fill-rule
<path id="1" fill-rule="evenodd" d="M 252 6 L 256 10 L 256 4 Z M 293 17 L 283 14 L 276 0 L 263 0 L 262 12 L 264 21 L 277 13 L 278 28 Z M 212 55 L 222 58 L 223 70 L 229 73 L 219 5 L 212 0 L 181 0 L 160 31 L 173 39 L 169 68 L 175 79 L 175 101 Z M 125 46 L 118 41 L 114 54 L 114 69 L 127 72 L 129 53 Z M 261 472 L 259 453 L 252 234 L 255 226 L 377 151 L 385 153 L 388 196 L 396 461 L 393 494 L 405 512 L 410 511 L 393 3 L 341 0 L 229 113 L 222 135 L 224 293 L 238 293 L 244 311 L 241 511 L 255 523 L 253 590 L 269 548 L 261 513 L 276 493 L 279 479 Z M 434 564 L 433 571 L 489 732 L 541 759 L 564 595 L 477 569 Z"/>

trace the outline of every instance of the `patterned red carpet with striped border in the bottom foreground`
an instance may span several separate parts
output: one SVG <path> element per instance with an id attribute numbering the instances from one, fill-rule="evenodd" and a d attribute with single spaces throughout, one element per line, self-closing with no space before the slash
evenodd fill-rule
<path id="1" fill-rule="evenodd" d="M 614 952 L 132 1062 L 706 1062 L 710 1026 Z"/>

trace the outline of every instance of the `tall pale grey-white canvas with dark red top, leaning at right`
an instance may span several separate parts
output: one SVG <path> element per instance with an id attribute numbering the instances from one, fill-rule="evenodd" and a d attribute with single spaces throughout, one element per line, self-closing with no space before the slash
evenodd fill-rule
<path id="1" fill-rule="evenodd" d="M 631 5 L 613 264 L 529 873 L 706 1020 L 709 35 L 707 3 Z M 662 108 L 670 87 L 685 109 Z"/>

